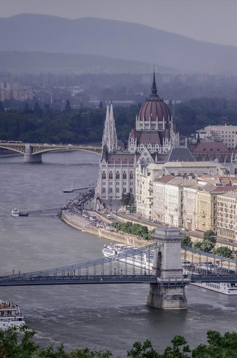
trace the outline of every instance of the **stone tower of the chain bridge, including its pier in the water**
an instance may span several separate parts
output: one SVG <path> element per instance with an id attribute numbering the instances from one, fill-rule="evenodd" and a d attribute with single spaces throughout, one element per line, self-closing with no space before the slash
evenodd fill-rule
<path id="1" fill-rule="evenodd" d="M 147 304 L 170 310 L 186 309 L 185 286 L 189 279 L 184 278 L 181 264 L 182 236 L 173 228 L 157 228 L 151 236 L 163 245 L 154 257 L 153 274 L 157 283 L 150 284 Z"/>

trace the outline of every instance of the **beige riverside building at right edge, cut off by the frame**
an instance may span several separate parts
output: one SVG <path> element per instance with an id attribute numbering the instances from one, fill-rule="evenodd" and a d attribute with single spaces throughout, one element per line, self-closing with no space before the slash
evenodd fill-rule
<path id="1" fill-rule="evenodd" d="M 217 205 L 217 235 L 224 239 L 236 240 L 237 191 L 234 190 L 223 195 L 218 195 Z"/>

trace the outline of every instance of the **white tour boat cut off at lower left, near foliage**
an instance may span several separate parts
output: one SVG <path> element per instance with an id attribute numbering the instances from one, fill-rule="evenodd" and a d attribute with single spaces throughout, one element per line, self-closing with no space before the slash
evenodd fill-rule
<path id="1" fill-rule="evenodd" d="M 24 316 L 20 313 L 19 307 L 11 302 L 0 300 L 0 329 L 6 330 L 8 327 L 24 324 Z"/>

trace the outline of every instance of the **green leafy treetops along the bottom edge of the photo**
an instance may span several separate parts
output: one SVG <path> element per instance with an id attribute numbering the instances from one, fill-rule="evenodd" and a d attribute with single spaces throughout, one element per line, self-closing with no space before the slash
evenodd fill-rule
<path id="1" fill-rule="evenodd" d="M 19 336 L 20 333 L 21 335 Z M 27 326 L 11 327 L 6 331 L 0 330 L 0 358 L 111 358 L 109 350 L 97 351 L 89 348 L 76 349 L 66 353 L 63 344 L 59 347 L 50 345 L 41 348 L 33 341 L 36 332 L 28 330 Z M 22 337 L 23 335 L 23 337 Z M 163 354 L 156 352 L 149 340 L 143 344 L 135 342 L 131 351 L 127 351 L 130 358 L 236 358 L 237 333 L 226 332 L 222 336 L 217 331 L 208 331 L 208 345 L 200 344 L 193 351 L 182 336 L 175 336 Z M 119 358 L 119 357 L 118 357 Z"/>

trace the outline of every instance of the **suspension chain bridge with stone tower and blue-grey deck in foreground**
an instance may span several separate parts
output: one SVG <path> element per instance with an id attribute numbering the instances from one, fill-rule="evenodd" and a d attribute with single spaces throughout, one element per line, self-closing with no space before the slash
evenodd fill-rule
<path id="1" fill-rule="evenodd" d="M 156 228 L 152 236 L 151 244 L 109 257 L 40 271 L 13 271 L 0 276 L 0 286 L 146 283 L 150 285 L 148 305 L 186 309 L 185 286 L 189 283 L 236 285 L 237 261 L 181 245 L 178 229 Z M 133 265 L 128 263 L 131 259 Z M 135 266 L 138 260 L 139 267 Z"/>

